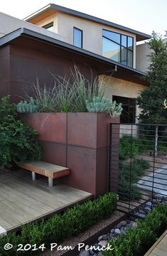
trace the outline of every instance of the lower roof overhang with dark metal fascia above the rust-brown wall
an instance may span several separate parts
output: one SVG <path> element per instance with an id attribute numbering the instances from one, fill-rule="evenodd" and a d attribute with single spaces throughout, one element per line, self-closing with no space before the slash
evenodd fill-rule
<path id="1" fill-rule="evenodd" d="M 142 71 L 129 68 L 121 63 L 116 63 L 113 60 L 97 55 L 96 53 L 77 48 L 69 43 L 64 43 L 63 41 L 31 31 L 27 28 L 18 28 L 16 31 L 1 37 L 0 47 L 16 42 L 19 38 L 24 38 L 24 47 L 26 45 L 25 40 L 28 39 L 38 41 L 45 45 L 47 44 L 47 46 L 52 46 L 56 48 L 57 52 L 59 51 L 59 55 L 64 58 L 71 58 L 95 67 L 98 70 L 99 75 L 113 75 L 116 78 L 135 82 L 139 85 L 148 85 L 148 83 L 143 79 L 144 73 Z"/>

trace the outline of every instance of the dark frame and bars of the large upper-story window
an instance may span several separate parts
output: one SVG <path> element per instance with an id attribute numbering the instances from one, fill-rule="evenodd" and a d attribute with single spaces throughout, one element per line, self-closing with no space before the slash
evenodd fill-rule
<path id="1" fill-rule="evenodd" d="M 103 31 L 108 31 L 108 32 L 111 32 L 111 33 L 117 33 L 118 35 L 120 35 L 120 43 L 117 43 L 117 42 L 113 41 L 112 39 L 110 39 L 110 38 L 108 38 L 106 36 L 103 36 Z M 126 36 L 127 37 L 127 47 L 122 45 L 122 36 Z M 128 48 L 128 37 L 132 38 L 132 50 Z M 118 46 L 120 46 L 120 62 L 119 63 L 122 63 L 121 62 L 122 61 L 122 58 L 121 58 L 121 50 L 122 50 L 122 48 L 125 48 L 127 50 L 127 52 L 129 50 L 132 53 L 132 67 L 127 65 L 127 54 L 126 54 L 126 64 L 122 63 L 122 65 L 127 65 L 127 67 L 133 68 L 133 65 L 134 65 L 134 59 L 133 59 L 134 58 L 134 38 L 132 36 L 128 36 L 128 35 L 126 35 L 124 33 L 118 33 L 118 32 L 115 32 L 115 31 L 109 31 L 108 29 L 105 29 L 105 28 L 102 29 L 102 40 L 103 40 L 103 38 L 108 39 L 109 41 L 111 41 L 113 43 L 116 43 Z M 102 44 L 103 44 L 103 42 L 102 42 Z"/>

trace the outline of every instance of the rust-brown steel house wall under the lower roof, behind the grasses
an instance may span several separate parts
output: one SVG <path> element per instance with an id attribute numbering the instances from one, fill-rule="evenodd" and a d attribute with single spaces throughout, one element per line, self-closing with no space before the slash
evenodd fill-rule
<path id="1" fill-rule="evenodd" d="M 0 98 L 10 94 L 11 102 L 18 102 L 25 92 L 33 95 L 30 83 L 36 78 L 40 85 L 53 86 L 52 74 L 69 77 L 74 63 L 85 78 L 91 79 L 91 71 L 93 76 L 98 75 L 96 68 L 82 58 L 30 38 L 18 38 L 0 48 Z"/>

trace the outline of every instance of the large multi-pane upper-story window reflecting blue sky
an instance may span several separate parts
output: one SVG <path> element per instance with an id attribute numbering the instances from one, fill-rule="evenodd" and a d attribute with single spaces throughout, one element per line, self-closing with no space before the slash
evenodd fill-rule
<path id="1" fill-rule="evenodd" d="M 103 56 L 133 67 L 133 38 L 103 29 Z"/>

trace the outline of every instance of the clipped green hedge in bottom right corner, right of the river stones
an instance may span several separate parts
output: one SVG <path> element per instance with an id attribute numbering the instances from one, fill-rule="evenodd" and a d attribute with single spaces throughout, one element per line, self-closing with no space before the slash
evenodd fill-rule
<path id="1" fill-rule="evenodd" d="M 105 256 L 143 256 L 167 228 L 167 205 L 159 204 L 146 216 L 139 220 L 137 228 L 129 228 L 125 235 L 109 244 L 113 250 L 103 252 Z"/>

